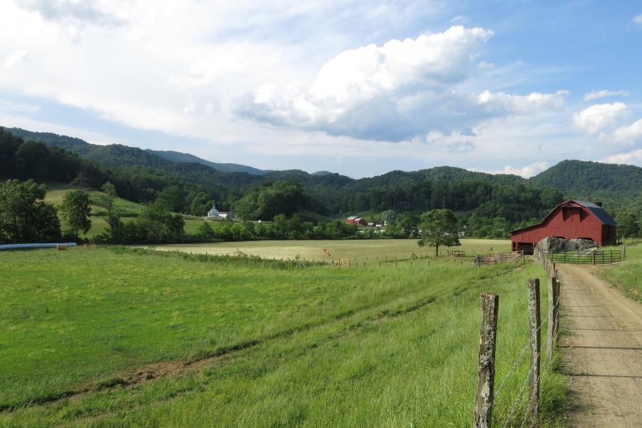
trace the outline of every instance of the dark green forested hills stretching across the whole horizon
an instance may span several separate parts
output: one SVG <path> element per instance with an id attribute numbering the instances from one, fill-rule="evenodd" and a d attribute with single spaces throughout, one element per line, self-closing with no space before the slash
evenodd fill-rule
<path id="1" fill-rule="evenodd" d="M 385 210 L 413 215 L 448 208 L 457 213 L 468 233 L 506 236 L 511 228 L 538 220 L 570 197 L 599 198 L 611 213 L 633 213 L 639 218 L 633 202 L 640 197 L 642 168 L 629 165 L 564 161 L 529 180 L 447 166 L 395 170 L 360 180 L 301 170 L 257 175 L 215 170 L 203 160 L 168 159 L 199 159 L 185 153 L 169 152 L 176 154 L 167 156 L 163 152 L 165 157 L 161 157 L 158 152 L 128 146 L 96 146 L 56 134 L 7 131 L 11 133 L 2 133 L 0 147 L 5 178 L 73 182 L 91 188 L 100 188 L 108 180 L 119 195 L 136 202 L 148 203 L 163 193 L 171 194 L 173 210 L 193 215 L 203 215 L 213 202 L 224 210 L 238 210 L 248 219 L 262 220 L 300 209 L 341 217 L 341 213 Z M 16 138 L 18 135 L 29 141 Z"/>

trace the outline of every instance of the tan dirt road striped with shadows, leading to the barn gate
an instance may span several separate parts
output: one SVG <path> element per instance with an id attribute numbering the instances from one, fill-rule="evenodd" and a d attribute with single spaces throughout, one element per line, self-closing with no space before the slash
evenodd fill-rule
<path id="1" fill-rule="evenodd" d="M 642 305 L 591 273 L 559 265 L 564 366 L 574 427 L 642 427 Z"/>

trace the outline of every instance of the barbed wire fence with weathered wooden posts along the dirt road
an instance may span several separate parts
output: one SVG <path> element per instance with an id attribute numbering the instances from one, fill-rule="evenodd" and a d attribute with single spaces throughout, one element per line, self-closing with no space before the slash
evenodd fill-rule
<path id="1" fill-rule="evenodd" d="M 499 313 L 499 296 L 491 293 L 484 293 L 481 295 L 481 332 L 479 338 L 479 381 L 477 384 L 477 395 L 475 397 L 474 406 L 474 422 L 473 428 L 491 428 L 492 425 L 492 411 L 496 407 L 496 398 L 500 397 L 503 401 L 503 394 L 500 393 L 508 384 L 509 379 L 513 378 L 519 367 L 522 365 L 526 350 L 530 350 L 530 364 L 529 371 L 521 382 L 519 391 L 515 397 L 511 397 L 511 405 L 509 407 L 506 419 L 501 421 L 501 427 L 517 427 L 523 428 L 526 422 L 530 422 L 531 427 L 539 426 L 539 410 L 541 403 L 540 394 L 540 379 L 541 379 L 541 355 L 546 352 L 546 359 L 544 360 L 544 372 L 550 370 L 551 360 L 553 357 L 553 348 L 557 342 L 557 335 L 559 334 L 559 302 L 560 302 L 560 287 L 559 277 L 555 270 L 554 264 L 549 264 L 541 260 L 542 265 L 546 269 L 548 277 L 549 289 L 549 307 L 548 307 L 548 322 L 546 324 L 541 322 L 540 317 L 540 298 L 539 298 L 539 279 L 530 279 L 528 282 L 528 312 L 529 312 L 529 341 L 521 348 L 519 355 L 516 357 L 509 370 L 504 374 L 499 387 L 494 389 L 494 375 L 495 375 L 495 350 L 496 350 L 496 325 L 497 315 Z M 541 329 L 546 325 L 546 340 L 544 345 L 541 344 Z M 521 424 L 518 410 L 519 404 L 524 399 L 524 392 L 526 385 L 529 385 L 528 404 L 526 405 L 524 416 L 521 417 Z M 508 400 L 506 400 L 508 401 Z M 519 424 L 519 425 L 517 425 Z M 500 426 L 497 424 L 496 426 Z"/>

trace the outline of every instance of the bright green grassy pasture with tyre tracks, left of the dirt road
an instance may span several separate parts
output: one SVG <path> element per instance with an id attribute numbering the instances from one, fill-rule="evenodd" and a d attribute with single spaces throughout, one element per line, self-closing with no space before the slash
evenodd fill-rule
<path id="1" fill-rule="evenodd" d="M 526 280 L 544 270 L 431 262 L 2 252 L 0 426 L 469 426 L 479 295 L 500 295 L 499 383 L 528 340 Z M 499 392 L 496 421 L 527 360 Z M 542 384 L 543 426 L 561 426 L 564 377 L 545 370 Z"/>

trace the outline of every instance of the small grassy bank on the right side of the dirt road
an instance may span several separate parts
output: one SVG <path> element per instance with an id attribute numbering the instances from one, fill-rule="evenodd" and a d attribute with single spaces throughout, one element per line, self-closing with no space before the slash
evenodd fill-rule
<path id="1" fill-rule="evenodd" d="M 626 245 L 626 263 L 606 267 L 601 276 L 627 297 L 642 302 L 642 242 L 638 240 Z"/>

